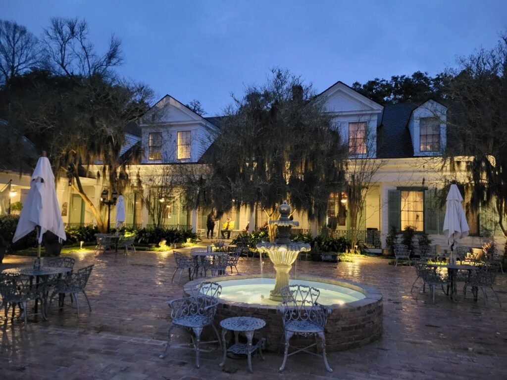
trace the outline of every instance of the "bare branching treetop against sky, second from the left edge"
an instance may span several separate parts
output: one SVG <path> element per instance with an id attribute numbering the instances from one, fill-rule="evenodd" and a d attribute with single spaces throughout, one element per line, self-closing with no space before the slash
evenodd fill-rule
<path id="1" fill-rule="evenodd" d="M 89 28 L 85 20 L 77 18 L 51 19 L 44 29 L 44 45 L 52 67 L 59 74 L 90 77 L 100 74 L 107 77 L 113 67 L 121 65 L 121 42 L 111 36 L 107 51 L 98 54 L 88 38 Z"/>

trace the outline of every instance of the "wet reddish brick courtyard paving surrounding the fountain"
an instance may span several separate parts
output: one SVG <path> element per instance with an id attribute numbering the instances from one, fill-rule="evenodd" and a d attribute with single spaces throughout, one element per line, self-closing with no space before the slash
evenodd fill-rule
<path id="1" fill-rule="evenodd" d="M 384 259 L 298 264 L 300 274 L 377 287 L 384 296 L 381 340 L 330 353 L 333 373 L 325 371 L 320 358 L 303 354 L 289 357 L 279 374 L 282 355 L 270 352 L 265 361 L 252 359 L 250 374 L 245 359 L 228 359 L 220 368 L 218 350 L 202 355 L 200 369 L 194 367 L 191 351 L 171 348 L 165 359 L 158 358 L 169 326 L 167 300 L 182 296 L 184 284 L 183 278 L 180 285 L 170 281 L 175 269 L 172 252 L 70 256 L 77 259 L 75 268 L 95 264 L 87 286 L 92 313 L 83 297 L 79 319 L 74 309 L 58 312 L 54 307 L 49 321 L 30 322 L 26 331 L 21 322 L 8 323 L 2 330 L 0 379 L 507 378 L 507 314 L 492 294 L 488 308 L 482 297 L 475 303 L 461 295 L 453 303 L 441 292 L 434 305 L 427 295 L 416 300 L 410 294 L 414 269 L 394 268 Z M 31 262 L 32 258 L 7 256 L 1 268 Z M 238 269 L 259 273 L 259 259 L 241 258 Z M 269 263 L 265 271 L 272 272 Z M 497 277 L 495 289 L 507 307 L 507 275 Z M 176 340 L 184 339 L 180 330 L 173 331 Z"/>

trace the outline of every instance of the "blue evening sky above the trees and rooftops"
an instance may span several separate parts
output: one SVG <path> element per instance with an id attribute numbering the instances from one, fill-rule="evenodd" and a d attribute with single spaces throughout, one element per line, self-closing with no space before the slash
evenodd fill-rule
<path id="1" fill-rule="evenodd" d="M 115 33 L 120 72 L 158 97 L 199 99 L 220 115 L 231 92 L 264 83 L 271 67 L 323 91 L 453 65 L 507 30 L 507 1 L 27 1 L 0 0 L 0 19 L 40 35 L 54 16 L 85 18 L 103 51 Z"/>

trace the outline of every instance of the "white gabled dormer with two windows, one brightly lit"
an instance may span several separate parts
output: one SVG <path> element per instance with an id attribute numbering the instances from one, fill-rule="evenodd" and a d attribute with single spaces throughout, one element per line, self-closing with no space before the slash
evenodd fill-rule
<path id="1" fill-rule="evenodd" d="M 216 126 L 170 95 L 141 118 L 143 164 L 197 162 L 216 135 Z"/>

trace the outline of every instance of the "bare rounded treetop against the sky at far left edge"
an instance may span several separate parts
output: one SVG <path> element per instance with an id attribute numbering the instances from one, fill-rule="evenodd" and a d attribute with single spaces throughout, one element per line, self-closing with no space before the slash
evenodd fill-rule
<path id="1" fill-rule="evenodd" d="M 15 21 L 0 21 L 0 73 L 9 82 L 40 62 L 39 41 Z"/>

